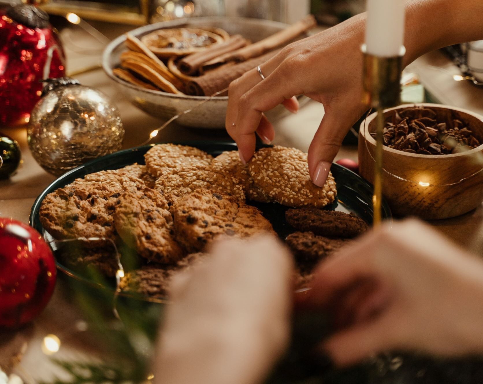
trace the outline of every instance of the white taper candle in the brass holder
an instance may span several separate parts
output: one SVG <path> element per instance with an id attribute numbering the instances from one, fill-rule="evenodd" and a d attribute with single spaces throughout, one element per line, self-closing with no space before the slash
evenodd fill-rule
<path id="1" fill-rule="evenodd" d="M 404 42 L 404 0 L 367 0 L 367 53 L 398 56 Z"/>

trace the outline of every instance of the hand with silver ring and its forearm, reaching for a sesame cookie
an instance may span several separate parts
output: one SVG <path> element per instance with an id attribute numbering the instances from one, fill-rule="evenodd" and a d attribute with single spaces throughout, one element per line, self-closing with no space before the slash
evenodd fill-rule
<path id="1" fill-rule="evenodd" d="M 403 65 L 431 50 L 483 38 L 480 0 L 406 1 L 406 55 Z M 451 18 L 448 18 L 451 15 Z M 323 186 L 330 164 L 350 127 L 364 114 L 362 54 L 366 14 L 291 43 L 229 87 L 226 128 L 242 161 L 253 156 L 257 134 L 270 143 L 275 132 L 263 114 L 279 104 L 295 112 L 293 97 L 305 95 L 324 104 L 325 115 L 309 148 L 309 171 Z M 387 33 L 391 33 L 388 31 Z"/>

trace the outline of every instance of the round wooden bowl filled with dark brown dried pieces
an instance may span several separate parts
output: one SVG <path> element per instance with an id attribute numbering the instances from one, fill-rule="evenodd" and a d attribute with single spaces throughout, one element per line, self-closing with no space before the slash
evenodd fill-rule
<path id="1" fill-rule="evenodd" d="M 406 104 L 384 111 L 392 116 L 396 110 L 426 106 L 445 117 L 459 119 L 483 142 L 483 116 L 468 110 L 441 104 Z M 359 173 L 374 181 L 376 114 L 361 124 L 359 131 Z M 383 194 L 393 213 L 423 219 L 446 219 L 478 207 L 483 201 L 483 145 L 453 155 L 418 155 L 384 146 Z"/>

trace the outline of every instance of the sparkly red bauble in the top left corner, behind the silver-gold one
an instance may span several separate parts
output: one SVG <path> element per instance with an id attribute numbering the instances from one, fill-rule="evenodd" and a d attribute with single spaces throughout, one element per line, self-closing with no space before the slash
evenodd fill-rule
<path id="1" fill-rule="evenodd" d="M 65 75 L 64 53 L 48 20 L 30 4 L 0 12 L 0 126 L 27 123 L 41 81 Z"/>

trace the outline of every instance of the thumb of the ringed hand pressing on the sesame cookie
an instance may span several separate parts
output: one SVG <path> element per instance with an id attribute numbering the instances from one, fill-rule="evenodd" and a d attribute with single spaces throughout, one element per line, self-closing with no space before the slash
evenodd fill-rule
<path id="1" fill-rule="evenodd" d="M 326 114 L 315 133 L 309 147 L 309 172 L 313 183 L 317 186 L 324 186 L 327 176 L 339 152 L 342 141 L 349 129 L 364 111 L 349 114 L 344 110 L 358 111 L 359 108 L 351 108 L 350 103 L 341 105 L 330 105 L 326 107 Z"/>

